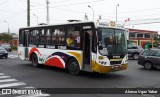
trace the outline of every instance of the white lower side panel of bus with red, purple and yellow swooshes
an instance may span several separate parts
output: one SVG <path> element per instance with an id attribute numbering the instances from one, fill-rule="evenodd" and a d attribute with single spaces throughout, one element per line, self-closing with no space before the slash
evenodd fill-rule
<path id="1" fill-rule="evenodd" d="M 33 53 L 37 55 L 39 64 L 67 68 L 69 58 L 73 57 L 82 68 L 82 51 L 29 47 L 30 60 Z"/>

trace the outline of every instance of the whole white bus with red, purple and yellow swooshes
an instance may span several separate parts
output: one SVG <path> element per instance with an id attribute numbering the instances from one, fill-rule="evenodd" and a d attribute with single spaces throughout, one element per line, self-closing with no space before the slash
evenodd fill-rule
<path id="1" fill-rule="evenodd" d="M 127 30 L 114 22 L 69 22 L 19 29 L 18 56 L 34 67 L 109 73 L 127 69 Z"/>

